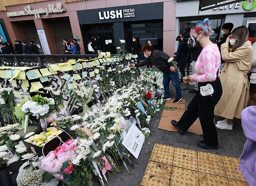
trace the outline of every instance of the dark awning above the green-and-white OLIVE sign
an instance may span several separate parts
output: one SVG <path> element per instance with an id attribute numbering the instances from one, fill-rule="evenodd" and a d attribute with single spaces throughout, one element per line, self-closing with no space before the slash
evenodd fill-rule
<path id="1" fill-rule="evenodd" d="M 223 0 L 199 0 L 199 11 L 209 10 L 237 2 L 241 2 L 241 0 L 230 0 L 228 2 Z M 219 4 L 216 5 L 217 3 Z"/>

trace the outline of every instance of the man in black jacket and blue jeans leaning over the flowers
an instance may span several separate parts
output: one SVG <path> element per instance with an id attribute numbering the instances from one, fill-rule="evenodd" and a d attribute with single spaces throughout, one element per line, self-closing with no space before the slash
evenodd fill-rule
<path id="1" fill-rule="evenodd" d="M 149 45 L 144 45 L 141 49 L 144 56 L 148 58 L 138 64 L 131 64 L 133 67 L 142 67 L 147 64 L 155 65 L 163 72 L 163 87 L 165 89 L 164 100 L 170 100 L 170 81 L 176 89 L 176 98 L 173 103 L 179 103 L 182 100 L 181 84 L 179 82 L 179 72 L 172 63 L 172 58 L 160 50 L 152 50 Z"/>

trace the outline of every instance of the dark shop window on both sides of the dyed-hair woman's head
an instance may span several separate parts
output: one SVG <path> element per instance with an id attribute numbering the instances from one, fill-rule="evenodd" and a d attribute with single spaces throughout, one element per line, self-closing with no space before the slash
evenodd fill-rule
<path id="1" fill-rule="evenodd" d="M 181 33 L 190 33 L 191 28 L 198 22 L 201 21 L 201 19 L 198 20 L 191 20 L 191 21 L 180 21 L 180 26 L 179 26 L 179 30 L 180 30 L 180 34 Z M 210 21 L 212 22 L 211 26 L 212 29 L 214 31 L 213 34 L 210 35 L 210 40 L 212 42 L 216 42 L 216 40 L 219 40 L 219 34 L 221 31 L 221 22 L 222 19 L 210 19 Z"/>

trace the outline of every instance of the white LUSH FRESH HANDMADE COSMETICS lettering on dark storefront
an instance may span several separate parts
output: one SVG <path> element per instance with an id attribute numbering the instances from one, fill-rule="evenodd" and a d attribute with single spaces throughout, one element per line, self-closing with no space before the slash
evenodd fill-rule
<path id="1" fill-rule="evenodd" d="M 135 9 L 110 10 L 99 12 L 100 20 L 135 17 Z"/>

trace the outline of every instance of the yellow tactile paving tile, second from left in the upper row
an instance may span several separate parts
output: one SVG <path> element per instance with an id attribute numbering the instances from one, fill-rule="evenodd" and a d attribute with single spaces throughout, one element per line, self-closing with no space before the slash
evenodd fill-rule
<path id="1" fill-rule="evenodd" d="M 195 150 L 175 147 L 173 165 L 198 171 L 197 152 Z"/>

